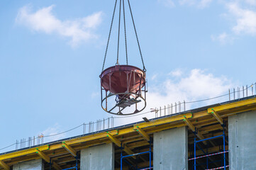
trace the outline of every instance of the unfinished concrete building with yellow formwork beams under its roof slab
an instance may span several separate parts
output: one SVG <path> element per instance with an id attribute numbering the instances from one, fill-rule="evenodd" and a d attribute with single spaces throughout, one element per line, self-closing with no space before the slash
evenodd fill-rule
<path id="1" fill-rule="evenodd" d="M 256 96 L 0 154 L 0 169 L 256 169 Z"/>

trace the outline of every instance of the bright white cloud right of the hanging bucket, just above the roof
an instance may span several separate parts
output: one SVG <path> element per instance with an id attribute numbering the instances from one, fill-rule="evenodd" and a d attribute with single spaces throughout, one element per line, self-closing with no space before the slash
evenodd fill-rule
<path id="1" fill-rule="evenodd" d="M 226 77 L 215 77 L 201 69 L 180 77 L 177 81 L 166 79 L 162 84 L 149 87 L 148 103 L 151 107 L 173 103 L 176 101 L 191 101 L 201 98 L 211 98 L 228 91 L 230 81 Z"/>

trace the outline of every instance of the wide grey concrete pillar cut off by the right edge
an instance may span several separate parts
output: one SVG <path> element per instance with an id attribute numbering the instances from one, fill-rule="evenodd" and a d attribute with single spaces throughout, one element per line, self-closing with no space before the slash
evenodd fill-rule
<path id="1" fill-rule="evenodd" d="M 256 169 L 256 111 L 228 117 L 230 170 Z"/>

